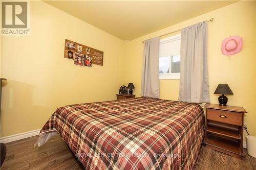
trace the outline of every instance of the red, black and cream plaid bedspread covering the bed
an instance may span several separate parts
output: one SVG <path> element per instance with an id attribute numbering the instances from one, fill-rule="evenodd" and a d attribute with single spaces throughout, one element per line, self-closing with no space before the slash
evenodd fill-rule
<path id="1" fill-rule="evenodd" d="M 201 106 L 153 98 L 58 108 L 56 130 L 86 169 L 193 169 L 204 136 Z"/>

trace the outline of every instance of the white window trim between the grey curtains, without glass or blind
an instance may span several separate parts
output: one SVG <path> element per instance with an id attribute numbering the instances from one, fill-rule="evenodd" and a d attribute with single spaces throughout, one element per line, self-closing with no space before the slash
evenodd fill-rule
<path id="1" fill-rule="evenodd" d="M 181 39 L 181 34 L 163 38 L 160 40 L 160 44 L 167 43 L 170 41 L 176 41 L 179 39 Z M 170 56 L 174 56 L 174 55 L 178 55 L 178 54 L 170 54 Z M 172 60 L 173 60 L 173 57 L 172 57 Z M 172 60 L 170 60 L 170 64 L 172 64 Z M 172 69 L 170 71 L 172 71 Z M 159 74 L 159 80 L 179 80 L 179 79 L 180 79 L 180 72 Z"/>

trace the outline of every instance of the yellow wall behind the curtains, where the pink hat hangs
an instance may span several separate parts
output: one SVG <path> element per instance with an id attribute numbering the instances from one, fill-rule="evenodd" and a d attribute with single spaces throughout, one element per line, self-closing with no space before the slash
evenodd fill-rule
<path id="1" fill-rule="evenodd" d="M 233 96 L 228 96 L 228 105 L 242 106 L 248 113 L 244 121 L 251 135 L 256 135 L 255 113 L 255 2 L 238 2 L 204 15 L 178 23 L 126 43 L 126 83 L 133 82 L 135 94 L 140 95 L 142 40 L 153 38 L 194 23 L 214 18 L 208 23 L 208 66 L 211 103 L 218 103 L 213 94 L 218 84 L 228 84 Z M 221 53 L 221 43 L 229 35 L 243 38 L 242 51 L 228 56 Z M 160 98 L 178 100 L 179 80 L 160 80 Z"/>

